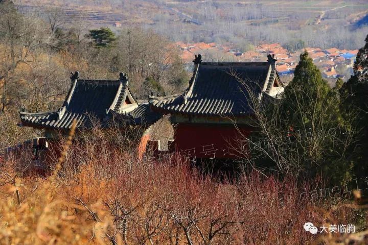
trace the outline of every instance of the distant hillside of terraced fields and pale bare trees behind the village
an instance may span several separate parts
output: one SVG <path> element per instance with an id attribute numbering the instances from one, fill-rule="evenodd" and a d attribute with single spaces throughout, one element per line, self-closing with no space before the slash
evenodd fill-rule
<path id="1" fill-rule="evenodd" d="M 258 45 L 303 40 L 308 45 L 355 49 L 362 45 L 366 0 L 17 0 L 22 12 L 64 11 L 66 22 L 79 17 L 88 28 L 149 27 L 175 41 Z M 356 24 L 363 23 L 363 24 Z M 114 29 L 116 30 L 116 29 Z M 337 40 L 340 39 L 340 40 Z"/>

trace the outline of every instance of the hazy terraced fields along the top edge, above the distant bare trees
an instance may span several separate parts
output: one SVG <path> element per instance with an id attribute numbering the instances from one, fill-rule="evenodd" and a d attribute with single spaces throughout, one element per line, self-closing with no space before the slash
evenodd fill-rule
<path id="1" fill-rule="evenodd" d="M 165 1 L 165 0 L 18 0 L 15 3 L 24 11 L 39 11 L 45 8 L 60 8 L 67 16 L 81 16 L 93 24 L 106 24 L 115 21 L 125 23 L 157 22 L 159 16 L 168 15 L 168 21 L 183 18 L 206 18 L 206 14 L 215 11 L 222 19 L 243 15 L 252 22 L 262 22 L 265 18 L 278 18 L 279 23 L 288 23 L 290 19 L 300 24 L 324 24 L 331 19 L 327 13 L 335 14 L 336 19 L 355 21 L 368 13 L 368 4 L 358 1 Z M 255 9 L 257 8 L 257 9 Z M 206 13 L 207 12 L 207 13 Z M 260 16 L 256 16 L 259 12 Z M 248 14 L 247 14 L 248 13 Z M 247 15 L 249 15 L 247 18 Z M 252 15 L 252 16 L 251 16 Z M 343 17 L 343 18 L 342 18 Z M 198 22 L 200 22 L 198 20 Z"/>

